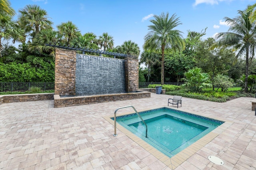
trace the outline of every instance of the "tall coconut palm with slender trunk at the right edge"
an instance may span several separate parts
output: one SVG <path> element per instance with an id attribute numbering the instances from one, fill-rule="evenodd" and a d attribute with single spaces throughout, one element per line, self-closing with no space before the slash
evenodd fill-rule
<path id="1" fill-rule="evenodd" d="M 243 11 L 239 10 L 236 18 L 224 19 L 230 25 L 228 32 L 218 33 L 216 39 L 218 40 L 217 45 L 224 47 L 233 47 L 238 51 L 236 59 L 245 55 L 246 57 L 246 70 L 245 70 L 245 83 L 244 92 L 248 92 L 248 67 L 249 59 L 254 58 L 256 49 L 256 23 L 250 21 L 250 16 L 252 15 L 253 8 L 247 6 Z"/>

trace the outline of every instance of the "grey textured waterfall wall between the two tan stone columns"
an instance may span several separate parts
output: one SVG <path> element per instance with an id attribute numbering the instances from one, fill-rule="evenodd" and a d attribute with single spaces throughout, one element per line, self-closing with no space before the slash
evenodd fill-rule
<path id="1" fill-rule="evenodd" d="M 76 54 L 76 95 L 125 93 L 124 60 Z"/>

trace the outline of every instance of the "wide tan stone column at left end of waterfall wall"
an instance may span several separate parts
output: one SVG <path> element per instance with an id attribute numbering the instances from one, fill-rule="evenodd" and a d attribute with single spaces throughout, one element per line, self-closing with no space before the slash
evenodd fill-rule
<path id="1" fill-rule="evenodd" d="M 76 51 L 55 49 L 55 94 L 76 94 Z"/>

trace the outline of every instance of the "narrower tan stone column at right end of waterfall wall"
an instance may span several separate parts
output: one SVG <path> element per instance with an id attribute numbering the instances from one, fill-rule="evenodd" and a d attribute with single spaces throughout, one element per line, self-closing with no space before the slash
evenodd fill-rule
<path id="1" fill-rule="evenodd" d="M 126 92 L 134 92 L 139 89 L 138 59 L 125 59 L 125 85 Z"/>

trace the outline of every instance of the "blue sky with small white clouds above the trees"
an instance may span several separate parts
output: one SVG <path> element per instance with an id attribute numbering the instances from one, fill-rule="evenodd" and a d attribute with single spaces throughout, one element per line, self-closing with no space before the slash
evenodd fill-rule
<path id="1" fill-rule="evenodd" d="M 114 38 L 114 47 L 132 40 L 142 51 L 153 15 L 176 14 L 182 23 L 176 29 L 183 32 L 184 38 L 188 30 L 200 32 L 207 27 L 204 36 L 207 38 L 228 31 L 223 18 L 238 16 L 238 10 L 256 0 L 10 0 L 10 3 L 16 11 L 14 19 L 18 10 L 36 4 L 48 12 L 54 28 L 72 21 L 82 34 L 93 32 L 100 36 L 108 32 Z"/>

